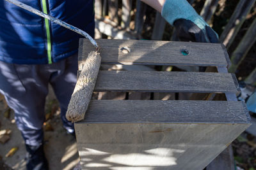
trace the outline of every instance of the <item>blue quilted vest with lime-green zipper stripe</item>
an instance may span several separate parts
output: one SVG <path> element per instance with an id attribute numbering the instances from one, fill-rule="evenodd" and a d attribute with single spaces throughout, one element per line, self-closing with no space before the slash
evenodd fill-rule
<path id="1" fill-rule="evenodd" d="M 94 36 L 93 0 L 19 0 Z M 29 11 L 0 1 L 0 60 L 51 64 L 77 53 L 82 38 Z"/>

